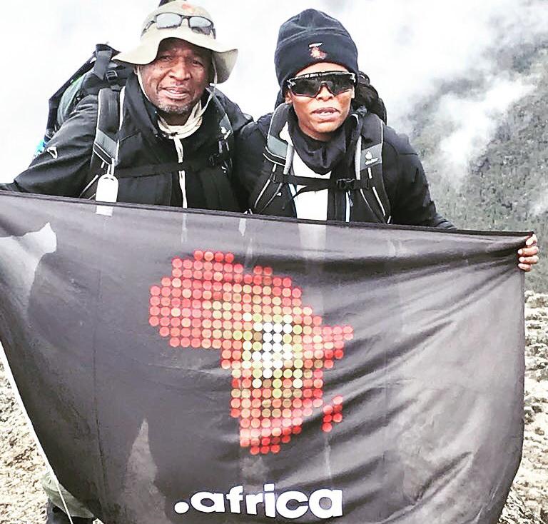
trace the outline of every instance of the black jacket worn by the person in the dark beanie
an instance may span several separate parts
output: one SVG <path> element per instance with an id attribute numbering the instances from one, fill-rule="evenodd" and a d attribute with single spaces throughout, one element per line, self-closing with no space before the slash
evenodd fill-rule
<path id="1" fill-rule="evenodd" d="M 260 209 L 263 206 L 259 205 L 256 208 L 254 206 L 258 194 L 268 180 L 268 173 L 263 171 L 265 161 L 263 151 L 271 117 L 271 114 L 261 117 L 257 123 L 245 126 L 239 134 L 236 143 L 235 178 L 240 186 L 239 193 L 247 198 L 245 205 L 251 211 L 295 217 L 295 206 L 288 188 L 283 188 L 266 208 Z M 349 177 L 353 178 L 354 174 L 349 173 Z M 437 213 L 436 206 L 430 198 L 424 169 L 407 137 L 396 133 L 388 126 L 384 126 L 382 177 L 392 210 L 391 223 L 440 228 L 454 227 Z M 265 191 L 260 200 L 268 202 L 272 196 Z M 360 202 L 360 199 L 356 198 L 354 205 L 360 206 Z M 360 215 L 360 213 L 355 214 Z"/>

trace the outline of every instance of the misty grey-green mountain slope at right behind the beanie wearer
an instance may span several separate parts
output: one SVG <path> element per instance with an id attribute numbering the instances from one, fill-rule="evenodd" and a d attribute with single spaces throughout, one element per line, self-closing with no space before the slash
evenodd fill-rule
<path id="1" fill-rule="evenodd" d="M 519 52 L 518 52 L 519 51 Z M 484 92 L 473 79 L 440 86 L 437 96 L 414 111 L 412 143 L 419 151 L 440 212 L 460 228 L 535 231 L 548 248 L 548 44 L 522 46 L 497 56 L 501 69 L 534 86 L 497 122 L 494 138 L 468 163 L 468 174 L 455 178 L 440 158 L 450 124 L 439 103 L 448 93 Z M 457 106 L 458 109 L 458 106 Z M 472 114 L 470 119 L 474 119 Z M 390 114 L 389 114 L 390 119 Z M 390 122 L 389 122 L 390 123 Z M 458 155 L 458 151 L 454 152 Z M 546 253 L 544 253 L 546 258 Z M 548 262 L 527 277 L 527 288 L 548 291 Z"/>

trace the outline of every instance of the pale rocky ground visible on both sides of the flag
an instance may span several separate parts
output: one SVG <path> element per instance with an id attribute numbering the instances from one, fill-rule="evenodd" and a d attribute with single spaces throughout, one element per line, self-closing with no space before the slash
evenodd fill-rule
<path id="1" fill-rule="evenodd" d="M 548 524 L 548 295 L 526 293 L 525 440 L 500 524 Z M 42 524 L 44 460 L 0 365 L 0 524 Z"/>

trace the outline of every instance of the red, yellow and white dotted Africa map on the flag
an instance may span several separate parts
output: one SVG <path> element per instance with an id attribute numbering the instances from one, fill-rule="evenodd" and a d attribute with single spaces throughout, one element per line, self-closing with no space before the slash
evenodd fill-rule
<path id="1" fill-rule="evenodd" d="M 350 326 L 324 326 L 303 306 L 291 278 L 232 253 L 196 251 L 173 258 L 171 276 L 151 287 L 149 323 L 173 348 L 218 350 L 232 375 L 230 415 L 250 453 L 279 453 L 323 410 L 322 430 L 342 421 L 342 396 L 325 401 L 325 370 L 344 356 Z"/>

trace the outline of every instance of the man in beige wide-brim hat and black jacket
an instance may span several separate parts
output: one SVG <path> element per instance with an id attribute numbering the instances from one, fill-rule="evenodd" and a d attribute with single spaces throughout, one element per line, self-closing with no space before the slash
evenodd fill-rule
<path id="1" fill-rule="evenodd" d="M 133 66 L 121 92 L 103 89 L 81 100 L 46 151 L 4 188 L 240 211 L 231 183 L 232 146 L 250 118 L 215 89 L 237 55 L 216 39 L 207 11 L 183 0 L 162 2 L 146 17 L 140 44 L 114 59 Z M 103 91 L 109 96 L 100 104 Z M 116 113 L 113 152 L 107 148 L 106 158 L 96 139 L 100 107 L 100 121 Z M 110 180 L 104 181 L 106 171 Z"/>

